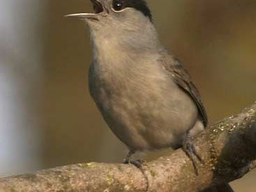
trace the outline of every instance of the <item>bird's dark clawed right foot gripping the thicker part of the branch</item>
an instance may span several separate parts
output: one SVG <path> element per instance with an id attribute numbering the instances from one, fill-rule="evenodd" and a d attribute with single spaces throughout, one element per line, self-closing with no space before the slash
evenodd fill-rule
<path id="1" fill-rule="evenodd" d="M 197 151 L 195 150 L 195 146 L 193 145 L 193 137 L 189 134 L 186 136 L 186 138 L 183 141 L 183 151 L 187 154 L 189 159 L 193 163 L 193 167 L 195 168 L 195 174 L 198 175 L 198 170 L 196 166 L 196 158 L 201 162 L 204 163 L 202 158 L 199 156 Z"/>

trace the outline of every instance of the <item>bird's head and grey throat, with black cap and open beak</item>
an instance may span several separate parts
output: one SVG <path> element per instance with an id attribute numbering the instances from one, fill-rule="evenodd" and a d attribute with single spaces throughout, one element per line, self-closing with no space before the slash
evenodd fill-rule
<path id="1" fill-rule="evenodd" d="M 154 47 L 158 42 L 145 0 L 90 0 L 94 13 L 66 15 L 88 24 L 96 45 L 114 42 L 125 47 Z"/>

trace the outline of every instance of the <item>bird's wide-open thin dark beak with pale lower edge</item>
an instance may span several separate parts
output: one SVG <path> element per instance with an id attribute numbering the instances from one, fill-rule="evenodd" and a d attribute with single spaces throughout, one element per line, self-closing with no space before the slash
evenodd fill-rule
<path id="1" fill-rule="evenodd" d="M 75 14 L 69 14 L 65 15 L 65 17 L 77 17 L 80 19 L 97 19 L 98 20 L 98 15 L 100 13 L 103 13 L 103 5 L 100 3 L 99 0 L 91 0 L 91 3 L 93 3 L 93 10 L 94 13 L 75 13 Z"/>

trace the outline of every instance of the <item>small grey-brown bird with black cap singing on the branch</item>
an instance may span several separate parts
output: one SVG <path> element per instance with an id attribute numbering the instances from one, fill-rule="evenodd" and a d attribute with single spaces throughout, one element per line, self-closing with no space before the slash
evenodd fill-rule
<path id="1" fill-rule="evenodd" d="M 89 91 L 108 127 L 135 152 L 182 147 L 202 161 L 193 138 L 208 124 L 195 84 L 158 38 L 144 0 L 90 0 L 93 13 L 76 13 L 89 27 Z M 227 190 L 226 190 L 227 191 Z"/>

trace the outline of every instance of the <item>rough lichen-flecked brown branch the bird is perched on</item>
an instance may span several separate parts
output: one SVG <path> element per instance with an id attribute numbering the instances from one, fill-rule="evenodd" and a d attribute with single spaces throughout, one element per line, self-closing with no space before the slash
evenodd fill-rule
<path id="1" fill-rule="evenodd" d="M 1 191 L 200 191 L 239 179 L 256 166 L 256 102 L 195 138 L 199 175 L 182 150 L 133 165 L 80 163 L 0 179 Z"/>

